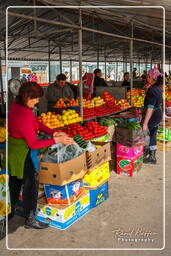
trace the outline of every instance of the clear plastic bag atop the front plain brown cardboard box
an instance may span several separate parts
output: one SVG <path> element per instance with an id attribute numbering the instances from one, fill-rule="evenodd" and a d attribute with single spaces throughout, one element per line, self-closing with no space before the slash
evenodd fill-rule
<path id="1" fill-rule="evenodd" d="M 47 163 L 64 163 L 80 156 L 83 152 L 84 150 L 77 143 L 71 145 L 58 143 L 52 145 L 41 160 Z"/>

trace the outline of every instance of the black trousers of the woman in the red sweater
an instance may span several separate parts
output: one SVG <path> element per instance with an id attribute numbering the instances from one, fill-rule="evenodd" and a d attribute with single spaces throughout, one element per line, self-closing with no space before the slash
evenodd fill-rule
<path id="1" fill-rule="evenodd" d="M 14 207 L 19 199 L 21 187 L 23 185 L 23 207 L 24 213 L 27 217 L 30 211 L 36 211 L 37 197 L 38 197 L 38 176 L 35 172 L 30 152 L 27 154 L 23 179 L 10 176 L 9 178 L 9 189 L 11 197 L 11 205 Z"/>

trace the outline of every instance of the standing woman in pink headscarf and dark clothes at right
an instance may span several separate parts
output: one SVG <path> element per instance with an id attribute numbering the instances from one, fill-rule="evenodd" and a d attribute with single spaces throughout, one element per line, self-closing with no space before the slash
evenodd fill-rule
<path id="1" fill-rule="evenodd" d="M 146 77 L 147 93 L 144 99 L 143 131 L 150 133 L 149 147 L 145 147 L 143 162 L 156 164 L 157 130 L 162 120 L 162 74 L 157 68 L 151 69 Z"/>

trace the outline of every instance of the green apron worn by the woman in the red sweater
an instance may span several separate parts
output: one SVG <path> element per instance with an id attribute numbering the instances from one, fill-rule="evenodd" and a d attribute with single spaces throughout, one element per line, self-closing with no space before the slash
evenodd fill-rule
<path id="1" fill-rule="evenodd" d="M 29 147 L 24 139 L 8 137 L 8 171 L 11 176 L 23 178 L 24 164 Z"/>

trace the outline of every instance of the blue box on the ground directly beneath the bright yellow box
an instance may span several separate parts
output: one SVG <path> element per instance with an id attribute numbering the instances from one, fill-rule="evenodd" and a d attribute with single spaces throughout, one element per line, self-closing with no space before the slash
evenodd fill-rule
<path id="1" fill-rule="evenodd" d="M 97 207 L 108 198 L 108 182 L 105 182 L 96 189 L 89 189 L 90 208 Z"/>

